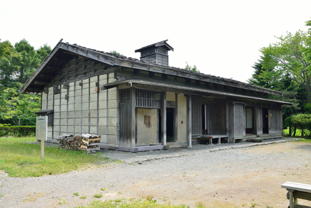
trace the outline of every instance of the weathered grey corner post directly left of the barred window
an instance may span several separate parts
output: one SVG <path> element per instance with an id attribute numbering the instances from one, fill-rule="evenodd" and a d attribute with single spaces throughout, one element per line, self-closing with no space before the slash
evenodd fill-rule
<path id="1" fill-rule="evenodd" d="M 135 88 L 131 87 L 130 88 L 130 117 L 129 122 L 130 122 L 130 147 L 134 148 L 135 147 L 135 102 L 136 102 L 136 96 L 135 96 Z"/>

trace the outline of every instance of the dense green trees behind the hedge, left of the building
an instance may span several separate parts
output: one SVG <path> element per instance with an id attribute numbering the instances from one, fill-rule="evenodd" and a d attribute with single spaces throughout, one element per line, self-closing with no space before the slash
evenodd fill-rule
<path id="1" fill-rule="evenodd" d="M 41 98 L 18 91 L 50 52 L 47 44 L 34 50 L 25 39 L 15 47 L 9 41 L 0 42 L 0 123 L 35 125 Z"/>

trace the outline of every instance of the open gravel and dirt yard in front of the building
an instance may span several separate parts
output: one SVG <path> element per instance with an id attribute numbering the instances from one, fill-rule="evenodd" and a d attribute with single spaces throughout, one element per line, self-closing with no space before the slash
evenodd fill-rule
<path id="1" fill-rule="evenodd" d="M 159 203 L 190 207 L 198 201 L 212 207 L 287 207 L 281 184 L 311 184 L 310 155 L 310 143 L 286 142 L 35 178 L 1 171 L 0 207 L 75 207 L 93 201 L 95 193 L 103 195 L 100 200 L 151 195 Z"/>

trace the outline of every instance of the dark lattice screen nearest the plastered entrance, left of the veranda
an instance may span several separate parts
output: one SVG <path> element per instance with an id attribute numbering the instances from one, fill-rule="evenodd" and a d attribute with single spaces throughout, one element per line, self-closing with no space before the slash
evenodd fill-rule
<path id="1" fill-rule="evenodd" d="M 202 99 L 200 97 L 191 99 L 191 134 L 202 135 Z"/>

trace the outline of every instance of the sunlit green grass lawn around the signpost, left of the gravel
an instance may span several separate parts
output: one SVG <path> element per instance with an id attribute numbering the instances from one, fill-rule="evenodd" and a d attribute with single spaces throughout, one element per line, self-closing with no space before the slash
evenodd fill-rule
<path id="1" fill-rule="evenodd" d="M 35 137 L 0 138 L 0 170 L 12 177 L 35 177 L 65 173 L 103 160 L 97 157 L 101 153 L 88 155 L 83 151 L 46 146 L 41 160 L 40 145 L 24 143 L 32 141 L 36 141 Z"/>

